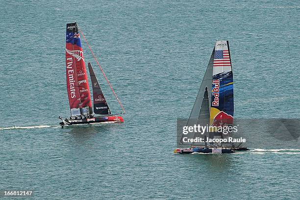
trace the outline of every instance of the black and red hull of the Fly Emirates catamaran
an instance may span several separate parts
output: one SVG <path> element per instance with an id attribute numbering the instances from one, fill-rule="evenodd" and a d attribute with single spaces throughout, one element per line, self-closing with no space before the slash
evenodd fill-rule
<path id="1" fill-rule="evenodd" d="M 107 117 L 93 117 L 85 119 L 65 119 L 59 123 L 61 126 L 64 125 L 84 125 L 84 124 L 94 124 L 94 123 L 120 123 L 124 122 L 123 117 L 121 116 L 107 116 Z"/>

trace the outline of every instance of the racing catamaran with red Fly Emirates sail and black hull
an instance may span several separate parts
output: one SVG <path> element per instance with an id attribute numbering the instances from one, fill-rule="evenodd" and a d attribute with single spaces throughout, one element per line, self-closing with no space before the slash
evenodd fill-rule
<path id="1" fill-rule="evenodd" d="M 83 36 L 84 40 L 86 41 L 80 29 L 79 31 Z M 124 122 L 122 116 L 118 116 L 111 113 L 109 106 L 102 93 L 102 90 L 100 88 L 97 77 L 92 68 L 92 65 L 91 63 L 88 63 L 88 68 L 89 68 L 89 73 L 91 76 L 92 88 L 93 88 L 93 101 L 94 101 L 93 103 L 94 112 L 93 112 L 92 100 L 90 95 L 90 89 L 89 89 L 89 84 L 87 79 L 87 72 L 85 68 L 85 62 L 84 62 L 83 50 L 81 47 L 79 31 L 76 23 L 67 24 L 66 75 L 67 75 L 67 91 L 69 97 L 71 117 L 66 119 L 59 117 L 59 119 L 62 120 L 62 122 L 59 124 L 63 127 L 64 125 Z M 89 46 L 88 43 L 87 45 L 101 69 L 101 66 L 96 56 L 94 55 L 91 47 Z M 125 110 L 121 104 L 121 101 L 118 99 L 117 95 L 115 94 L 112 86 L 110 85 L 103 71 L 102 73 L 123 110 L 121 114 L 125 114 Z M 94 114 L 98 114 L 99 116 L 94 117 Z"/>

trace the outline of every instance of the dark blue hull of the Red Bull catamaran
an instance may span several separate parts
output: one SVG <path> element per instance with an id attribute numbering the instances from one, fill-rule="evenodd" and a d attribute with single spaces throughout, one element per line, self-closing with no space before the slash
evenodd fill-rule
<path id="1" fill-rule="evenodd" d="M 174 153 L 234 153 L 236 151 L 249 150 L 245 147 L 236 149 L 212 149 L 212 148 L 185 148 L 175 149 Z"/>

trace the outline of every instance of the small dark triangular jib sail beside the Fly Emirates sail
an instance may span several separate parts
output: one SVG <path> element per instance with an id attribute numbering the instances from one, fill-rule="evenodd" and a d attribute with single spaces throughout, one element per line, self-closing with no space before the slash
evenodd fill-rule
<path id="1" fill-rule="evenodd" d="M 102 90 L 100 88 L 97 77 L 94 73 L 91 63 L 88 63 L 92 86 L 93 86 L 93 100 L 94 100 L 94 113 L 99 115 L 110 115 L 108 104 L 104 98 Z"/>

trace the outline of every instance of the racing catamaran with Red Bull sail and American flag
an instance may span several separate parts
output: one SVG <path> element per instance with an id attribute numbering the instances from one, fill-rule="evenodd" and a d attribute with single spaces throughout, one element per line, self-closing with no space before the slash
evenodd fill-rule
<path id="1" fill-rule="evenodd" d="M 230 141 L 233 126 L 233 74 L 228 41 L 217 41 L 211 54 L 195 104 L 186 126 L 209 126 L 201 134 L 189 132 L 182 135 L 179 144 L 190 148 L 175 149 L 175 153 L 233 153 L 234 150 L 248 150 Z M 214 128 L 215 127 L 215 128 Z M 216 127 L 221 127 L 222 132 Z M 203 142 L 186 142 L 187 138 L 202 138 Z M 222 140 L 221 140 L 222 139 Z M 214 142 L 214 141 L 224 142 Z"/>

